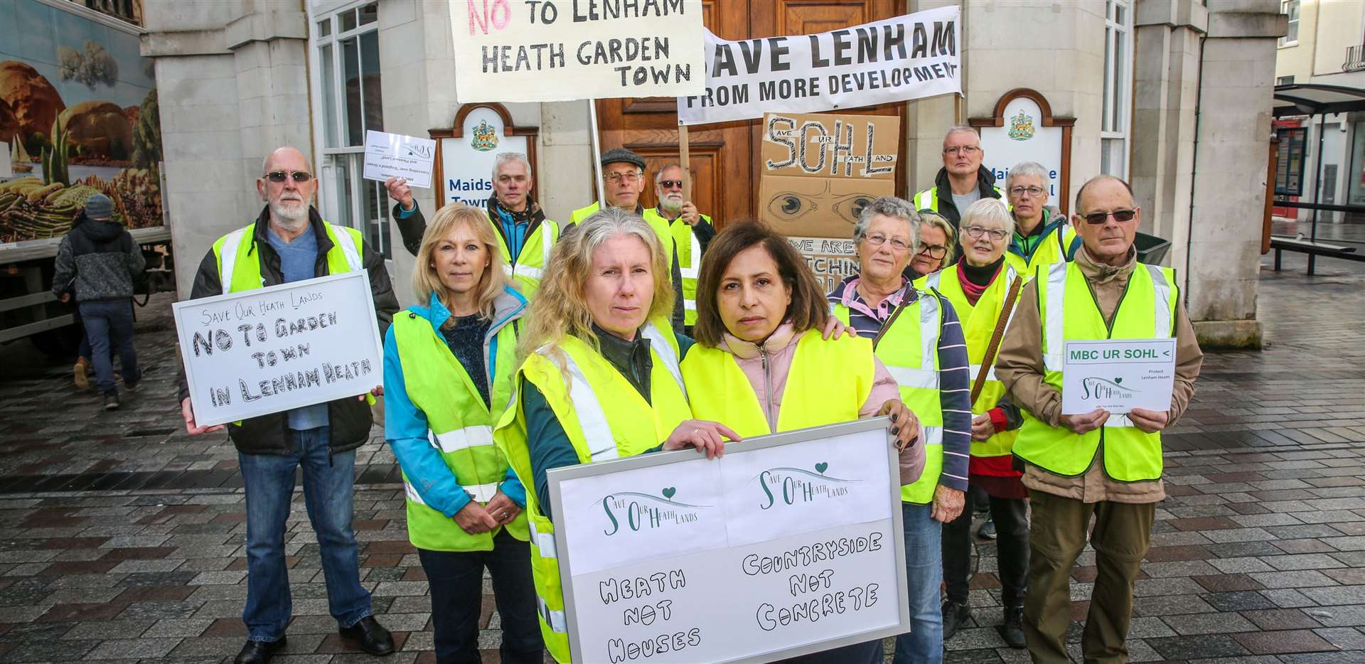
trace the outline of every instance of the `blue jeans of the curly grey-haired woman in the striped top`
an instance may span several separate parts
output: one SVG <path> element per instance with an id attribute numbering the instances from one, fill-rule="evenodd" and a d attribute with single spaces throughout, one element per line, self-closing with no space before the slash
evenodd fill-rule
<path id="1" fill-rule="evenodd" d="M 895 637 L 893 664 L 943 664 L 943 523 L 930 516 L 932 504 L 901 503 L 905 521 L 905 586 L 910 596 L 910 631 Z"/>

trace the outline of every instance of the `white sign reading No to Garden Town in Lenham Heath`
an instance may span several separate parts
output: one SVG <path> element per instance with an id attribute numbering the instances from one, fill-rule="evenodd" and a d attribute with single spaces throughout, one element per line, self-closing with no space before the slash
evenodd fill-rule
<path id="1" fill-rule="evenodd" d="M 384 383 L 367 271 L 171 307 L 199 425 L 355 398 Z"/>

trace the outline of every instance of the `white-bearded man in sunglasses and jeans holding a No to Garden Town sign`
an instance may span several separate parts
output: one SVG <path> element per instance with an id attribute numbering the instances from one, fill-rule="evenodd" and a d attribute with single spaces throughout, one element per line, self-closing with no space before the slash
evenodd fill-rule
<path id="1" fill-rule="evenodd" d="M 333 225 L 313 208 L 318 180 L 307 157 L 280 148 L 265 158 L 257 193 L 265 208 L 246 228 L 213 243 L 199 264 L 190 298 L 225 295 L 266 286 L 369 271 L 374 312 L 384 333 L 399 310 L 384 257 L 355 228 Z M 375 387 L 373 395 L 382 395 Z M 317 533 L 328 605 L 341 638 L 370 654 L 390 654 L 393 637 L 374 619 L 370 592 L 360 585 L 355 514 L 355 449 L 370 439 L 367 398 L 337 399 L 254 417 L 227 425 L 238 448 L 247 499 L 247 604 L 242 622 L 247 642 L 236 664 L 261 664 L 284 646 L 292 618 L 289 575 L 284 560 L 285 526 L 293 497 L 295 469 L 303 469 L 308 522 Z M 190 434 L 221 430 L 199 426 L 190 388 L 180 376 L 180 411 Z"/>

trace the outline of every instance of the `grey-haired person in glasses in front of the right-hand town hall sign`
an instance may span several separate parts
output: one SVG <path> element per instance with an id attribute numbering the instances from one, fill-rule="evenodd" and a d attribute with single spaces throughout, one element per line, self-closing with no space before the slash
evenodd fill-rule
<path id="1" fill-rule="evenodd" d="M 1047 168 L 1036 161 L 1021 161 L 1005 176 L 1005 193 L 1014 212 L 1014 238 L 1010 254 L 1024 260 L 1025 272 L 1039 265 L 1070 261 L 1081 238 L 1066 217 L 1047 206 Z"/>

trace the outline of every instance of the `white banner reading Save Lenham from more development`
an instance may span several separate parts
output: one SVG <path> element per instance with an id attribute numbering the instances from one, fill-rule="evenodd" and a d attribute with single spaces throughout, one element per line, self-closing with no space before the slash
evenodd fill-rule
<path id="1" fill-rule="evenodd" d="M 961 93 L 960 8 L 819 34 L 726 41 L 706 33 L 706 90 L 678 97 L 678 123 L 814 113 Z"/>

